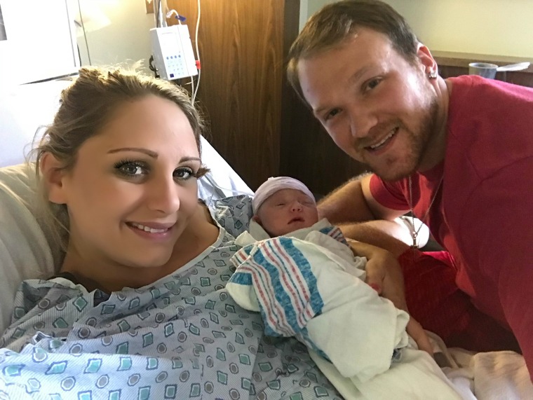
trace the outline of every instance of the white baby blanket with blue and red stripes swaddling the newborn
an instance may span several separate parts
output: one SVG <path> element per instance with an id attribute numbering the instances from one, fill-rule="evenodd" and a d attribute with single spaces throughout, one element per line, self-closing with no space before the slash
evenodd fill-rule
<path id="1" fill-rule="evenodd" d="M 296 336 L 342 375 L 365 381 L 407 345 L 409 316 L 365 284 L 365 258 L 335 236 L 342 233 L 327 221 L 259 242 L 243 233 L 237 243 L 247 245 L 232 258 L 227 289 L 243 308 L 262 312 L 269 335 Z"/>

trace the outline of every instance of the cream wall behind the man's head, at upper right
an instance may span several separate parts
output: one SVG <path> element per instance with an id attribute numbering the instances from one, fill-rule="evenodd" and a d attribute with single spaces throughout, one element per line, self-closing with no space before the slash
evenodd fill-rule
<path id="1" fill-rule="evenodd" d="M 301 0 L 309 17 L 335 0 Z M 532 0 L 385 0 L 431 50 L 532 57 Z"/>

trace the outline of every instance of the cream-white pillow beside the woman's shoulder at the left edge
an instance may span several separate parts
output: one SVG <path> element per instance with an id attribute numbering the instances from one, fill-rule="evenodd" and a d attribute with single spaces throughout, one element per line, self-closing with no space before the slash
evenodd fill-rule
<path id="1" fill-rule="evenodd" d="M 32 167 L 0 168 L 0 332 L 11 322 L 20 282 L 50 277 L 61 257 L 46 240 L 50 231 L 39 225 L 35 187 Z"/>

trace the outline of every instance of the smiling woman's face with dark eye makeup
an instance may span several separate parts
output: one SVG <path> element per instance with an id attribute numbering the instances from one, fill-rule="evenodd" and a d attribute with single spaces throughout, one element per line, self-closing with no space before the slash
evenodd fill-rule
<path id="1" fill-rule="evenodd" d="M 97 265 L 165 264 L 196 210 L 200 167 L 175 103 L 149 95 L 121 104 L 50 192 L 69 211 L 68 251 Z"/>

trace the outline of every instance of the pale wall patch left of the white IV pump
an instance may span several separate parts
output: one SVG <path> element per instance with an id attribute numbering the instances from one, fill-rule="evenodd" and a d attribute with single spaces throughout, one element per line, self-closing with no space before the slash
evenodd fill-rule
<path id="1" fill-rule="evenodd" d="M 144 69 L 149 72 L 149 29 L 155 22 L 154 14 L 146 13 L 144 0 L 80 0 L 80 6 L 91 64 L 133 64 L 143 60 Z M 77 13 L 77 3 L 73 7 Z M 77 39 L 82 64 L 86 65 L 88 54 L 82 33 L 78 29 Z"/>

